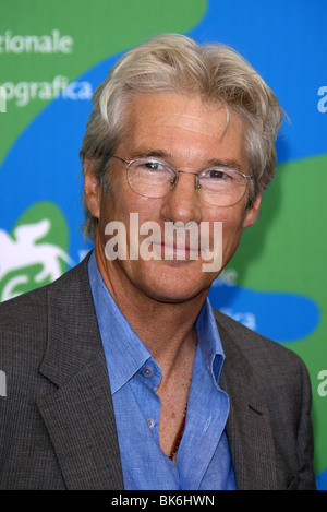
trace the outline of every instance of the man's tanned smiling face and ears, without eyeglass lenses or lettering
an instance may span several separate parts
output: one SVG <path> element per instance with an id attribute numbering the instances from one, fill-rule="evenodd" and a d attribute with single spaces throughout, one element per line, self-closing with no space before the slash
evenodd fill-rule
<path id="1" fill-rule="evenodd" d="M 131 160 L 154 156 L 168 162 L 175 169 L 199 172 L 216 162 L 232 163 L 242 172 L 250 174 L 244 150 L 244 129 L 241 119 L 230 114 L 226 127 L 226 110 L 220 105 L 204 104 L 199 96 L 172 93 L 142 94 L 129 104 L 128 133 L 116 155 Z M 137 213 L 140 225 L 156 222 L 162 233 L 165 223 L 222 222 L 222 267 L 233 255 L 242 229 L 256 219 L 259 198 L 246 210 L 249 194 L 235 205 L 210 206 L 199 199 L 195 177 L 181 174 L 172 191 L 158 199 L 144 198 L 128 184 L 125 164 L 112 159 L 108 191 L 105 193 L 88 167 L 85 168 L 85 200 L 90 213 L 99 219 L 96 236 L 96 253 L 102 275 L 112 291 L 118 285 L 166 302 L 187 301 L 204 297 L 219 274 L 204 272 L 207 263 L 198 254 L 191 260 L 132 260 L 130 255 L 130 214 Z M 126 259 L 110 261 L 106 258 L 105 235 L 107 223 L 119 221 L 126 227 Z M 211 236 L 214 230 L 210 229 Z M 140 243 L 144 236 L 140 236 Z M 210 241 L 213 247 L 214 240 Z M 162 242 L 164 247 L 164 242 Z M 220 269 L 221 271 L 221 269 Z M 114 295 L 114 291 L 113 291 Z"/>

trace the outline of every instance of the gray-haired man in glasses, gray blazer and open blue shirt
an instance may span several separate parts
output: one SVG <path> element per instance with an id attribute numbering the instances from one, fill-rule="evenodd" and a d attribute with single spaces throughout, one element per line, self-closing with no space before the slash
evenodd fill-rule
<path id="1" fill-rule="evenodd" d="M 1 488 L 315 488 L 304 365 L 207 299 L 280 122 L 221 45 L 164 35 L 110 71 L 81 150 L 95 251 L 0 309 Z"/>

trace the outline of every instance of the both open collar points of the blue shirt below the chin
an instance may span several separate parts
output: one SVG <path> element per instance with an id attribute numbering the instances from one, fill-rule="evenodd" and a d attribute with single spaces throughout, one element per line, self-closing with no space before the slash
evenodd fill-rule
<path id="1" fill-rule="evenodd" d="M 88 275 L 113 394 L 149 359 L 159 372 L 160 369 L 111 297 L 98 270 L 95 252 L 89 258 Z M 217 386 L 225 354 L 208 298 L 195 326 L 198 347 Z"/>

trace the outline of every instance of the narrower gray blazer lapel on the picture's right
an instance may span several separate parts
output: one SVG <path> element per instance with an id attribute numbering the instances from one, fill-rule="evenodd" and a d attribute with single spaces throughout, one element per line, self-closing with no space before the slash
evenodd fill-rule
<path id="1" fill-rule="evenodd" d="M 239 490 L 276 489 L 276 450 L 269 410 L 252 367 L 218 320 L 226 361 L 220 385 L 230 397 L 227 436 Z"/>

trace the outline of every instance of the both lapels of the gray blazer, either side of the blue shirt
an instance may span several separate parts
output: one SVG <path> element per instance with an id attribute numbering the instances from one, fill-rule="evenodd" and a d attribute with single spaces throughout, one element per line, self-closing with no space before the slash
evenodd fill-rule
<path id="1" fill-rule="evenodd" d="M 69 489 L 123 489 L 114 413 L 86 258 L 48 288 L 48 343 L 40 372 L 58 389 L 37 401 Z M 235 335 L 217 313 L 226 361 L 220 385 L 238 489 L 275 489 L 267 404 Z"/>

